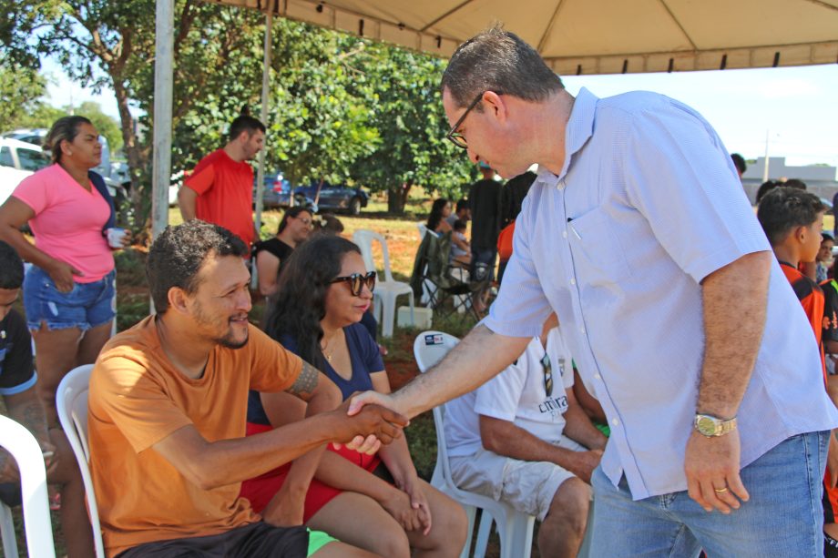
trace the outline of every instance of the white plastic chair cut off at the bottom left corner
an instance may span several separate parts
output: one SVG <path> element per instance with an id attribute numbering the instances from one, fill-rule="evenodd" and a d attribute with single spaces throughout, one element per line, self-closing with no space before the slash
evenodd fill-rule
<path id="1" fill-rule="evenodd" d="M 0 446 L 12 454 L 20 472 L 26 550 L 30 556 L 37 558 L 55 558 L 52 521 L 49 518 L 49 503 L 46 500 L 46 467 L 41 446 L 26 427 L 3 415 L 0 415 Z M 8 508 L 5 508 L 2 514 L 3 551 L 5 556 L 12 558 L 17 556 L 15 526 L 11 522 L 11 512 Z M 11 533 L 6 533 L 9 525 Z"/>

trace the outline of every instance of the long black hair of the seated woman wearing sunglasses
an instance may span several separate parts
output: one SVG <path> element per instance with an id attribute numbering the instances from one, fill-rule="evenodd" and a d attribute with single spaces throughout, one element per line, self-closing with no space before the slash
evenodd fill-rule
<path id="1" fill-rule="evenodd" d="M 320 347 L 321 320 L 326 316 L 326 294 L 340 272 L 343 256 L 361 253 L 353 242 L 335 235 L 316 235 L 282 263 L 282 272 L 265 322 L 265 332 L 274 340 L 288 335 L 297 343 L 302 360 L 325 370 Z"/>

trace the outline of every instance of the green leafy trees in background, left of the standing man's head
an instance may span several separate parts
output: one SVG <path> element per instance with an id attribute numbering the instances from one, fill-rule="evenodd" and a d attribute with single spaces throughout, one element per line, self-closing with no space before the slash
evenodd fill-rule
<path id="1" fill-rule="evenodd" d="M 52 56 L 80 85 L 113 90 L 135 215 L 144 216 L 154 0 L 0 0 L 0 9 L 4 61 L 31 68 Z M 222 146 L 242 107 L 259 116 L 264 21 L 255 10 L 175 1 L 174 171 Z M 441 60 L 279 18 L 274 29 L 269 170 L 387 191 L 393 210 L 413 185 L 452 193 L 469 181 L 471 165 L 444 139 Z"/>

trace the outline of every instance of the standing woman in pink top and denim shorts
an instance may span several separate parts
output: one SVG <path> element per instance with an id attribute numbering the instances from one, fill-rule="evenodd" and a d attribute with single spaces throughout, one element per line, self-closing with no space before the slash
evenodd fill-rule
<path id="1" fill-rule="evenodd" d="M 103 232 L 113 220 L 113 202 L 101 177 L 90 172 L 102 158 L 98 137 L 85 117 L 59 118 L 46 137 L 54 164 L 21 181 L 0 207 L 0 239 L 32 264 L 24 306 L 51 426 L 57 423 L 58 383 L 69 370 L 96 360 L 115 316 L 116 271 Z M 27 222 L 35 245 L 20 232 Z"/>

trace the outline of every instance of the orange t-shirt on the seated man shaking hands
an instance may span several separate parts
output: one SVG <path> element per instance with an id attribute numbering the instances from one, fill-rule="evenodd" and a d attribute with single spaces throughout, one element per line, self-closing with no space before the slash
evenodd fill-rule
<path id="1" fill-rule="evenodd" d="M 160 347 L 154 317 L 109 340 L 90 377 L 90 471 L 108 556 L 142 543 L 224 533 L 260 517 L 240 482 L 203 490 L 152 446 L 193 424 L 208 441 L 242 438 L 248 391 L 283 391 L 301 360 L 260 330 L 240 349 L 216 346 L 199 380 Z"/>

